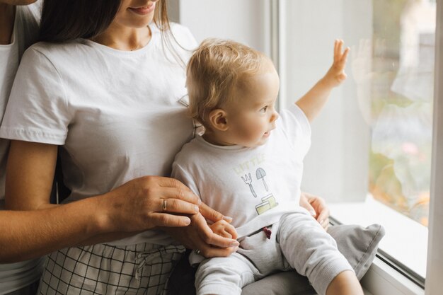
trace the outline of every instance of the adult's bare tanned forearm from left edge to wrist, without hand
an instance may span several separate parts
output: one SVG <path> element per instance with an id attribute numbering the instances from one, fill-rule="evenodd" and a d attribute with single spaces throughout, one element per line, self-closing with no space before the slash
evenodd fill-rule
<path id="1" fill-rule="evenodd" d="M 90 198 L 48 209 L 0 211 L 0 262 L 38 258 L 110 231 L 108 206 Z"/>

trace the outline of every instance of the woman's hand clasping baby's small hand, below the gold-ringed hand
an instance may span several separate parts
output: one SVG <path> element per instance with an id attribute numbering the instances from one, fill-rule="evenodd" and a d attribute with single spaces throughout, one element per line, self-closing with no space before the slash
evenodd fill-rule
<path id="1" fill-rule="evenodd" d="M 188 249 L 199 250 L 200 254 L 206 258 L 227 257 L 238 249 L 238 241 L 235 235 L 232 238 L 226 238 L 217 235 L 208 226 L 206 219 L 210 221 L 224 220 L 229 224 L 231 218 L 223 216 L 214 209 L 202 203 L 200 212 L 190 216 L 191 224 L 184 228 L 163 228 L 177 241 L 185 245 Z"/>

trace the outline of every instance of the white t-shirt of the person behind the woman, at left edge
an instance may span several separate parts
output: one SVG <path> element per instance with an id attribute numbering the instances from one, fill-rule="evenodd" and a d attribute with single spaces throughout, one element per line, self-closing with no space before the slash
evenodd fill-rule
<path id="1" fill-rule="evenodd" d="M 26 48 L 35 42 L 38 35 L 41 1 L 28 6 L 16 6 L 11 44 L 0 45 L 0 122 L 8 103 L 13 79 Z M 0 210 L 4 207 L 6 161 L 8 139 L 0 139 Z M 0 224 L 0 226 L 3 226 Z M 39 279 L 43 259 L 0 264 L 0 295 L 8 294 Z"/>

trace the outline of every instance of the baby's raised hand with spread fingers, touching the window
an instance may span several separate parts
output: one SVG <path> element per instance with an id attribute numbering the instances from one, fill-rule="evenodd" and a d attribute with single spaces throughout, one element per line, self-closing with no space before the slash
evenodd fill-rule
<path id="1" fill-rule="evenodd" d="M 347 54 L 350 48 L 346 47 L 343 51 L 343 40 L 335 40 L 334 42 L 334 62 L 328 72 L 323 78 L 323 81 L 328 83 L 330 87 L 339 86 L 345 81 L 347 75 L 345 73 L 345 66 L 347 61 Z"/>

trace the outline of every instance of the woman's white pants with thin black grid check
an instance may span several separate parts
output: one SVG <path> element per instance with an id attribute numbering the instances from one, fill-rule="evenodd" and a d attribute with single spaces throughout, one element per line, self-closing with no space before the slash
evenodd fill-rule
<path id="1" fill-rule="evenodd" d="M 147 243 L 65 248 L 49 255 L 37 294 L 163 295 L 185 248 Z"/>

